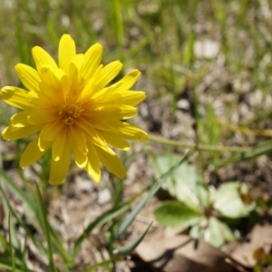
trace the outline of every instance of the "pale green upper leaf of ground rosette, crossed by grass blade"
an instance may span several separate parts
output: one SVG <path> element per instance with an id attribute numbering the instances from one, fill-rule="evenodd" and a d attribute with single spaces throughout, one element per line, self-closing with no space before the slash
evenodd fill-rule
<path id="1" fill-rule="evenodd" d="M 170 169 L 180 158 L 172 153 L 162 154 L 153 160 L 155 176 Z M 179 168 L 173 170 L 170 177 L 161 186 L 170 195 L 185 203 L 191 209 L 199 210 L 201 206 L 209 205 L 209 191 L 200 181 L 195 168 L 184 161 Z"/>

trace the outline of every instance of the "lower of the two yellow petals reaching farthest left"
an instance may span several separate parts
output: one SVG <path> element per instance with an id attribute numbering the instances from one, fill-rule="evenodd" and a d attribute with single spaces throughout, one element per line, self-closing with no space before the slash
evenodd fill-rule
<path id="1" fill-rule="evenodd" d="M 28 137 L 37 131 L 40 131 L 44 125 L 25 126 L 24 128 L 17 128 L 10 125 L 2 132 L 4 140 L 12 141 Z"/>

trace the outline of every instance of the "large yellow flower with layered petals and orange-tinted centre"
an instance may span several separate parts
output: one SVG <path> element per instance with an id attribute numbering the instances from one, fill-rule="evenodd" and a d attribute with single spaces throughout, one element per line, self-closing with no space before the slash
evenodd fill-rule
<path id="1" fill-rule="evenodd" d="M 49 182 L 61 183 L 70 168 L 71 156 L 78 167 L 95 181 L 101 180 L 100 162 L 117 177 L 126 171 L 111 145 L 130 149 L 126 140 L 143 141 L 147 134 L 125 122 L 137 114 L 134 107 L 145 99 L 144 92 L 129 91 L 140 76 L 134 70 L 119 82 L 108 83 L 121 71 L 115 61 L 103 66 L 102 45 L 92 45 L 86 53 L 76 53 L 73 39 L 63 34 L 59 44 L 59 66 L 43 48 L 32 50 L 34 68 L 19 63 L 16 73 L 29 90 L 5 86 L 1 98 L 21 112 L 2 132 L 11 141 L 28 137 L 20 166 L 25 168 L 52 149 Z"/>

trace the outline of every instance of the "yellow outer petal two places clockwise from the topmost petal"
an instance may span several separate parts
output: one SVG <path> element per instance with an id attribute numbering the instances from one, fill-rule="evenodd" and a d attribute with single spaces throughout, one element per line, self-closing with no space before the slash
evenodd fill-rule
<path id="1" fill-rule="evenodd" d="M 107 64 L 101 70 L 101 72 L 97 75 L 97 80 L 95 82 L 95 91 L 98 92 L 102 90 L 102 88 L 110 83 L 112 79 L 121 71 L 122 63 L 119 61 L 115 61 Z"/>

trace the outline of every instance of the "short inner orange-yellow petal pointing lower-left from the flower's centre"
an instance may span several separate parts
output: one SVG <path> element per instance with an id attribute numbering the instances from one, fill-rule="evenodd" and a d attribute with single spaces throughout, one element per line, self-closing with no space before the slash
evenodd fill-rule
<path id="1" fill-rule="evenodd" d="M 40 132 L 40 136 L 44 139 L 44 141 L 55 141 L 61 133 L 65 134 L 65 127 L 66 124 L 63 121 L 53 121 L 47 123 Z"/>

